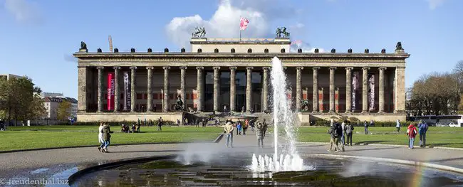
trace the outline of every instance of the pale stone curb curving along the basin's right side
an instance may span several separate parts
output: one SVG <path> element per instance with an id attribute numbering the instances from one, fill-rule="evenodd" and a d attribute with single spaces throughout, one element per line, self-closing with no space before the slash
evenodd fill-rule
<path id="1" fill-rule="evenodd" d="M 424 166 L 431 169 L 439 169 L 443 171 L 452 171 L 455 173 L 463 173 L 463 169 L 452 167 L 452 166 L 444 166 L 439 164 L 430 164 L 420 161 L 406 161 L 406 160 L 399 160 L 399 159 L 385 159 L 385 158 L 375 158 L 375 157 L 368 157 L 368 156 L 350 156 L 350 155 L 339 155 L 339 154 L 301 154 L 303 156 L 318 156 L 318 157 L 335 157 L 335 158 L 346 158 L 346 159 L 367 159 L 370 161 L 378 161 L 378 162 L 389 162 L 393 164 L 405 164 L 410 166 Z"/>

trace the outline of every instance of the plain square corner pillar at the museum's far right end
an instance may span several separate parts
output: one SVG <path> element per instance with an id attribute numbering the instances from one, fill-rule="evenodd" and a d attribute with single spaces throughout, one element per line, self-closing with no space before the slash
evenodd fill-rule
<path id="1" fill-rule="evenodd" d="M 395 113 L 405 112 L 405 67 L 395 69 Z"/>

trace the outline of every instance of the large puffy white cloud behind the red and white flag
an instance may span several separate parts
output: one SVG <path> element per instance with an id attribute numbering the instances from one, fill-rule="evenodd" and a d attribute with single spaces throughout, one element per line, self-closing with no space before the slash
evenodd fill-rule
<path id="1" fill-rule="evenodd" d="M 269 20 L 293 18 L 295 14 L 294 9 L 272 0 L 222 0 L 209 20 L 199 15 L 176 17 L 172 18 L 165 30 L 172 42 L 179 47 L 189 48 L 189 39 L 197 26 L 204 26 L 207 38 L 239 38 L 239 18 L 242 16 L 249 20 L 242 38 L 262 38 L 273 36 Z M 298 26 L 303 27 L 303 24 L 299 23 Z"/>

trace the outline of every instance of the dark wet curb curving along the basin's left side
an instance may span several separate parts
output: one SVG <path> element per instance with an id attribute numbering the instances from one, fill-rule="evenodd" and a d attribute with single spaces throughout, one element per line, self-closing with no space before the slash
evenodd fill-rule
<path id="1" fill-rule="evenodd" d="M 120 165 L 124 164 L 131 164 L 134 162 L 142 162 L 142 161 L 155 161 L 155 160 L 162 160 L 162 159 L 175 159 L 176 155 L 167 155 L 167 156 L 147 156 L 147 157 L 140 157 L 136 159 L 123 159 L 120 161 L 115 161 L 115 162 L 110 162 L 106 164 L 98 164 L 95 166 L 90 166 L 85 169 L 79 170 L 76 173 L 71 174 L 71 176 L 68 177 L 68 184 L 71 186 L 77 178 L 84 176 L 85 174 L 91 173 L 93 171 L 98 171 L 102 169 L 111 169 Z"/>

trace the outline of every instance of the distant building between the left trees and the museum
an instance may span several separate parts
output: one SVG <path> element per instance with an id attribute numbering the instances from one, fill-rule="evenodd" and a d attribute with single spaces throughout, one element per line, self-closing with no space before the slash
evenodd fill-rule
<path id="1" fill-rule="evenodd" d="M 46 96 L 49 95 L 57 95 L 56 97 L 53 96 Z M 69 117 L 76 117 L 77 116 L 77 100 L 72 97 L 64 97 L 63 94 L 58 93 L 45 93 L 43 94 L 45 97 L 43 98 L 43 106 L 46 108 L 45 118 L 47 119 L 57 119 L 58 118 L 58 107 L 61 102 L 67 101 L 71 103 L 71 107 L 68 109 Z"/>

